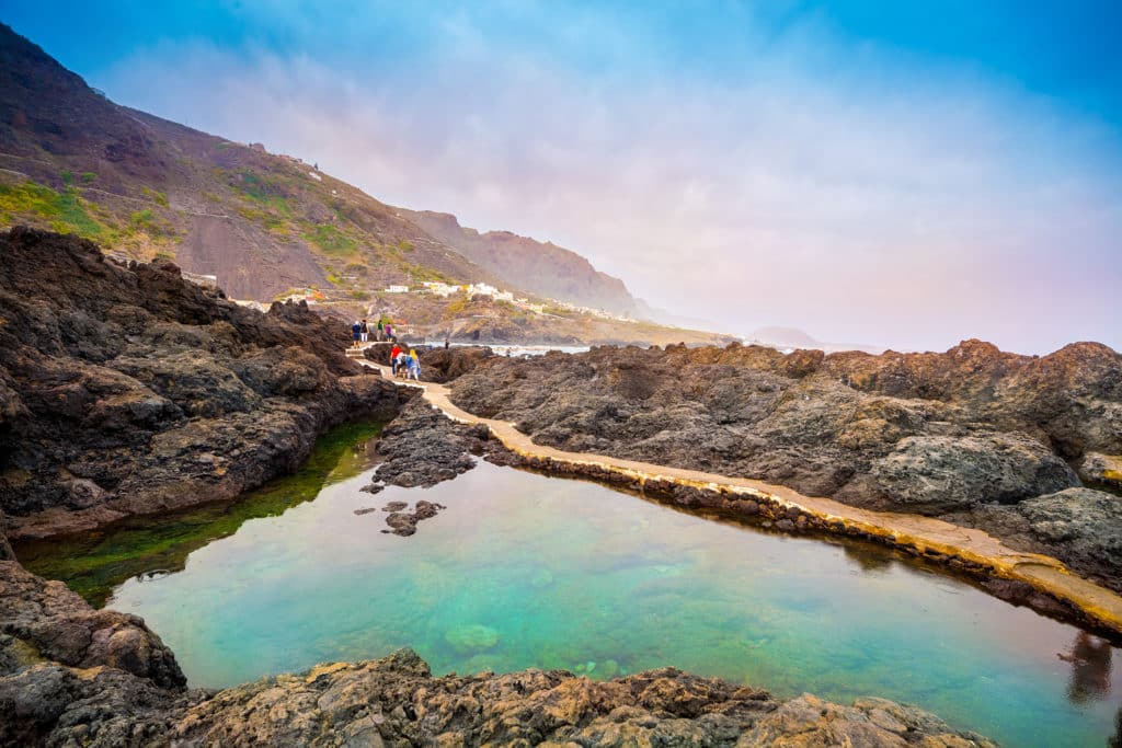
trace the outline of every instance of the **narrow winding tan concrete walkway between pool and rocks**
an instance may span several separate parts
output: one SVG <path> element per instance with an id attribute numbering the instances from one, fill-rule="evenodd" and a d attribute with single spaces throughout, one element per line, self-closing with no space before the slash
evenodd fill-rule
<path id="1" fill-rule="evenodd" d="M 730 478 L 601 454 L 564 452 L 534 444 L 530 436 L 517 431 L 513 423 L 481 418 L 460 409 L 452 404 L 450 390 L 444 385 L 405 382 L 394 379 L 389 367 L 370 361 L 361 363 L 378 370 L 401 387 L 419 387 L 430 405 L 453 421 L 463 424 L 485 424 L 495 438 L 518 455 L 574 465 L 596 465 L 640 481 L 668 481 L 696 488 L 726 490 L 729 493 L 743 495 L 745 498 L 770 499 L 785 507 L 795 507 L 829 523 L 840 523 L 870 535 L 889 538 L 921 554 L 930 552 L 958 557 L 990 569 L 995 576 L 1027 582 L 1037 590 L 1070 602 L 1104 627 L 1122 634 L 1122 597 L 1077 576 L 1051 556 L 1014 551 L 982 530 L 960 527 L 934 517 L 850 507 L 833 499 L 802 496 L 789 488 L 748 478 Z"/>

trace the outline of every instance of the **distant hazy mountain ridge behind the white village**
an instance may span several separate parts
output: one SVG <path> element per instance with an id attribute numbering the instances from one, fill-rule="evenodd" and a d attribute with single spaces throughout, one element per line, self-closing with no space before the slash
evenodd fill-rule
<path id="1" fill-rule="evenodd" d="M 573 251 L 509 231 L 479 233 L 460 225 L 450 213 L 410 211 L 402 215 L 508 284 L 580 306 L 616 314 L 638 312 L 623 280 L 600 273 Z"/>

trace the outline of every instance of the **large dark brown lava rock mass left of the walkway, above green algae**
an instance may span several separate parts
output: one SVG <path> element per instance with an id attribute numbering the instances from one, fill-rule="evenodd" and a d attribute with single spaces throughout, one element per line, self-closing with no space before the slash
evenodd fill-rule
<path id="1" fill-rule="evenodd" d="M 0 233 L 0 320 L 12 538 L 233 498 L 411 395 L 348 360 L 343 332 L 304 305 L 263 314 L 74 237 Z"/>

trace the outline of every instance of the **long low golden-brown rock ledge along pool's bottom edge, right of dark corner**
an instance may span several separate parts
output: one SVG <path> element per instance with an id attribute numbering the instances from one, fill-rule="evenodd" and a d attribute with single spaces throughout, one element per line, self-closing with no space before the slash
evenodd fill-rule
<path id="1" fill-rule="evenodd" d="M 535 669 L 432 677 L 408 649 L 227 689 L 190 709 L 174 735 L 223 746 L 994 745 L 881 699 L 781 703 L 669 667 L 607 682 Z"/>

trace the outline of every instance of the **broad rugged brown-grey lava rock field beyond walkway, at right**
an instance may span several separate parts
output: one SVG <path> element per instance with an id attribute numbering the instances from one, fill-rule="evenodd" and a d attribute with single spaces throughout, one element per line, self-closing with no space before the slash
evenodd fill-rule
<path id="1" fill-rule="evenodd" d="M 1122 357 L 1105 345 L 598 348 L 435 368 L 461 371 L 458 406 L 540 444 L 944 517 L 1122 590 L 1122 499 L 1100 490 L 1122 486 Z"/>

